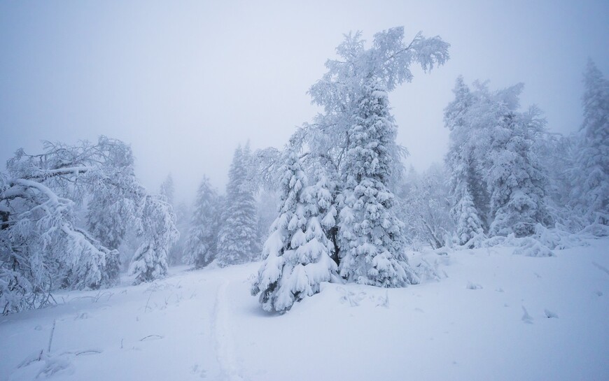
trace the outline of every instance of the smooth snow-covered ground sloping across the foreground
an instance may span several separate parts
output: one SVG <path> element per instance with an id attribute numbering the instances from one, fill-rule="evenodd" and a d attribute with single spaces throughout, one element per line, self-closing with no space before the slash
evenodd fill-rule
<path id="1" fill-rule="evenodd" d="M 416 254 L 442 280 L 327 284 L 283 316 L 249 295 L 258 264 L 57 294 L 0 317 L 0 380 L 609 380 L 609 239 L 512 251 Z"/>

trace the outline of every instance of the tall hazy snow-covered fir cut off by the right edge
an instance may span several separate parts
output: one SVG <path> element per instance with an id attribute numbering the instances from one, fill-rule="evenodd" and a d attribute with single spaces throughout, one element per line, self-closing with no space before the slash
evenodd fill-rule
<path id="1" fill-rule="evenodd" d="M 584 122 L 573 168 L 573 205 L 589 223 L 609 224 L 609 80 L 588 61 Z"/>

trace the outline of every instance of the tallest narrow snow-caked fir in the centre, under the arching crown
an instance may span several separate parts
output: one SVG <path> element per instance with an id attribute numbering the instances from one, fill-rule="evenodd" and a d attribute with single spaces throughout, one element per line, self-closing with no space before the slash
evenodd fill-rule
<path id="1" fill-rule="evenodd" d="M 387 187 L 397 127 L 379 82 L 364 85 L 356 113 L 347 131 L 339 196 L 340 275 L 381 287 L 416 283 L 405 256 L 405 226 L 395 215 L 394 195 Z"/>

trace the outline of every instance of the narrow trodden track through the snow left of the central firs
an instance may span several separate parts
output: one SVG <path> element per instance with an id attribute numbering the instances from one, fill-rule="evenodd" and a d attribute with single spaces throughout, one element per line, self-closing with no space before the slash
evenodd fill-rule
<path id="1" fill-rule="evenodd" d="M 218 286 L 211 329 L 214 334 L 221 380 L 245 381 L 245 378 L 242 376 L 243 372 L 239 364 L 237 364 L 237 359 L 235 359 L 235 340 L 232 337 L 230 329 L 230 312 L 226 294 L 228 285 L 229 282 L 226 280 Z"/>

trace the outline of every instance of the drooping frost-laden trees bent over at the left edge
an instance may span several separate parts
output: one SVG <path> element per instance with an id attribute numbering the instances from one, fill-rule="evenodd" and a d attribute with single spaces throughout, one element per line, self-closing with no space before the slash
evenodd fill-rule
<path id="1" fill-rule="evenodd" d="M 115 283 L 118 252 L 110 245 L 120 242 L 127 222 L 137 222 L 146 197 L 123 142 L 102 136 L 94 144 L 45 143 L 44 148 L 38 155 L 18 150 L 0 176 L 5 313 L 45 305 L 55 289 Z M 77 218 L 85 205 L 89 231 Z"/>

